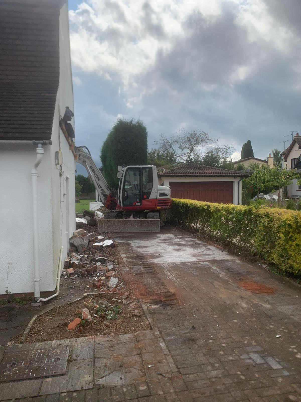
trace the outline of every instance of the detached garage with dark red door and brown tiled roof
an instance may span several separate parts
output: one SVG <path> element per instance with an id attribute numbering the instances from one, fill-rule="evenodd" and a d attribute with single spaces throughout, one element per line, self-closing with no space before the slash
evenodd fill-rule
<path id="1" fill-rule="evenodd" d="M 224 204 L 241 204 L 241 179 L 249 173 L 185 163 L 159 175 L 159 183 L 170 186 L 173 198 Z"/>

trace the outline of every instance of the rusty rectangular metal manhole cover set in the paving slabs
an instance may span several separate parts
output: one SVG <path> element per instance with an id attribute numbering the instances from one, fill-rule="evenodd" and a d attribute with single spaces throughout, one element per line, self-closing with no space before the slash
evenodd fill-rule
<path id="1" fill-rule="evenodd" d="M 69 351 L 69 346 L 61 346 L 5 353 L 0 364 L 0 381 L 65 374 Z"/>

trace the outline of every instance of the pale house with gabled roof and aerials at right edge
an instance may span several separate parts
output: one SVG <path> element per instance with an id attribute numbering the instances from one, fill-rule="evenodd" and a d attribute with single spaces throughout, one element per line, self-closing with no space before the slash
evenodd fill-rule
<path id="1" fill-rule="evenodd" d="M 294 169 L 297 167 L 296 164 L 301 157 L 301 136 L 299 133 L 296 133 L 291 145 L 280 155 L 282 156 L 283 169 Z M 297 171 L 301 173 L 299 166 L 297 167 Z M 287 186 L 287 195 L 288 197 L 301 197 L 301 185 L 297 185 L 297 179 L 293 179 L 292 183 Z"/>

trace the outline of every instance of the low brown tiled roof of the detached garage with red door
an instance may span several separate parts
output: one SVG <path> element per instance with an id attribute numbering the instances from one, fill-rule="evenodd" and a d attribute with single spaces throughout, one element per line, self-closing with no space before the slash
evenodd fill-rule
<path id="1" fill-rule="evenodd" d="M 183 177 L 197 177 L 197 176 L 249 176 L 249 173 L 241 172 L 237 170 L 228 170 L 222 168 L 213 168 L 211 166 L 205 166 L 201 164 L 195 163 L 184 163 L 180 166 L 167 170 L 163 174 L 160 174 L 161 177 L 163 176 L 183 176 Z"/>

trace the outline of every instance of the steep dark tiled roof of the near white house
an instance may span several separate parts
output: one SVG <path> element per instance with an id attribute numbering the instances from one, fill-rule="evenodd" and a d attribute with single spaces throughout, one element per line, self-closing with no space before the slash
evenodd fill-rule
<path id="1" fill-rule="evenodd" d="M 59 85 L 59 0 L 0 2 L 0 139 L 50 139 Z"/>

